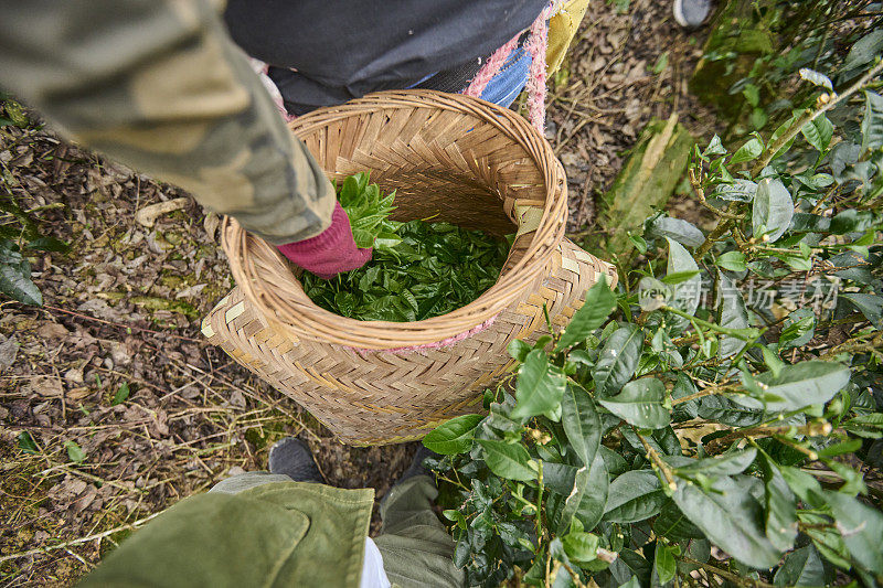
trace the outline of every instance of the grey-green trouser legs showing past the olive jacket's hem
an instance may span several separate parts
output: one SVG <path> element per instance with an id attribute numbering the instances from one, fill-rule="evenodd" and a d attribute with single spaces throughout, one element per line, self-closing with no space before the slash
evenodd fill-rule
<path id="1" fill-rule="evenodd" d="M 210 492 L 236 494 L 270 482 L 290 479 L 268 472 L 248 472 L 219 482 Z M 462 570 L 454 566 L 454 539 L 433 512 L 438 495 L 428 475 L 396 484 L 380 507 L 383 521 L 374 543 L 383 556 L 390 581 L 402 588 L 460 587 Z"/>

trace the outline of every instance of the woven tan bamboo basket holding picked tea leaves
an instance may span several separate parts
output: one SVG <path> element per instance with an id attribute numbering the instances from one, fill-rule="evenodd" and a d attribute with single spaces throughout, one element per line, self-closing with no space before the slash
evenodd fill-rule
<path id="1" fill-rule="evenodd" d="M 418 439 L 479 411 L 480 392 L 512 365 L 507 345 L 546 333 L 579 308 L 602 274 L 617 275 L 563 237 L 564 172 L 551 147 L 509 109 L 429 90 L 384 92 L 290 124 L 332 181 L 370 171 L 396 190 L 394 217 L 434 216 L 517 233 L 497 284 L 474 302 L 416 322 L 358 321 L 304 293 L 291 266 L 235 221 L 222 243 L 237 287 L 203 334 L 290 396 L 343 442 Z"/>

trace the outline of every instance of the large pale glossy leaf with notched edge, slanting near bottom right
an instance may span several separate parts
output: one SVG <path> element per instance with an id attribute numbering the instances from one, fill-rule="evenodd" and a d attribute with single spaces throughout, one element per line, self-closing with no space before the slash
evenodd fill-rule
<path id="1" fill-rule="evenodd" d="M 779 550 L 759 525 L 760 503 L 732 478 L 719 478 L 708 489 L 680 482 L 673 500 L 712 543 L 742 564 L 758 569 L 778 564 Z"/>

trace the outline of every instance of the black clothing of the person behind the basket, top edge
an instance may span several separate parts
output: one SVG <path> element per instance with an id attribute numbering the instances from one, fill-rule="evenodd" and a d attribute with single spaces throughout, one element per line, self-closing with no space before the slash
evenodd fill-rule
<path id="1" fill-rule="evenodd" d="M 270 65 L 286 108 L 300 115 L 381 89 L 459 92 L 482 56 L 530 26 L 546 3 L 230 0 L 224 19 L 234 41 Z"/>

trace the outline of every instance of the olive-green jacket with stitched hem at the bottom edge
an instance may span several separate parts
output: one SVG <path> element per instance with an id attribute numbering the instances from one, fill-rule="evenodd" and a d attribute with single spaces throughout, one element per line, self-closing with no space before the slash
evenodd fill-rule
<path id="1" fill-rule="evenodd" d="M 373 489 L 297 482 L 191 496 L 137 531 L 81 586 L 358 587 L 373 502 Z"/>

